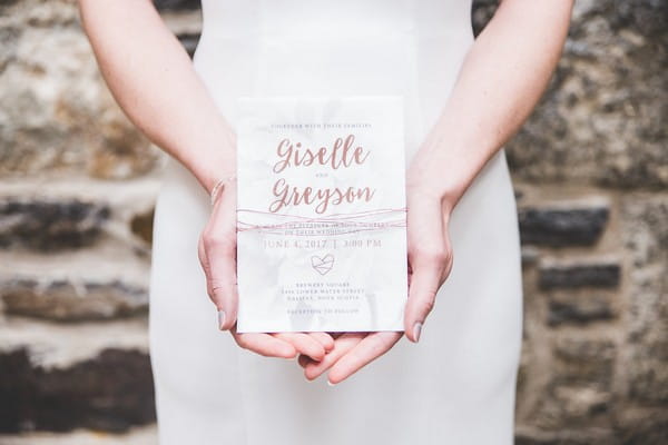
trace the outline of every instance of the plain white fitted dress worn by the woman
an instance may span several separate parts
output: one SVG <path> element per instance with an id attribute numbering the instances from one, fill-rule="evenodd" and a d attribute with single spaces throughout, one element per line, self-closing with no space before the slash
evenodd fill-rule
<path id="1" fill-rule="evenodd" d="M 409 164 L 473 41 L 470 12 L 468 0 L 204 0 L 194 63 L 233 125 L 238 96 L 404 95 Z M 453 268 L 420 343 L 402 337 L 336 386 L 217 329 L 197 258 L 208 215 L 207 194 L 170 158 L 150 281 L 160 444 L 513 442 L 522 287 L 503 150 L 454 209 Z"/>

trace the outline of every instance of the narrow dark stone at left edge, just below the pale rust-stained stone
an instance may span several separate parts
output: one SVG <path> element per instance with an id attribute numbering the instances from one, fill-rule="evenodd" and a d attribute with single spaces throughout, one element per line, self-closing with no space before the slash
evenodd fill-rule
<path id="1" fill-rule="evenodd" d="M 105 204 L 9 196 L 0 200 L 0 246 L 43 251 L 95 243 L 109 219 Z"/>

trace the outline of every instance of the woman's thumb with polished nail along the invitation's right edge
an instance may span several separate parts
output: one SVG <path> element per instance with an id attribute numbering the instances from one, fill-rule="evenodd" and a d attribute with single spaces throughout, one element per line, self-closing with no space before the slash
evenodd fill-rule
<path id="1" fill-rule="evenodd" d="M 422 326 L 436 304 L 436 294 L 443 284 L 448 264 L 448 251 L 416 251 L 412 255 L 409 298 L 404 310 L 404 330 L 406 337 L 416 343 Z"/>

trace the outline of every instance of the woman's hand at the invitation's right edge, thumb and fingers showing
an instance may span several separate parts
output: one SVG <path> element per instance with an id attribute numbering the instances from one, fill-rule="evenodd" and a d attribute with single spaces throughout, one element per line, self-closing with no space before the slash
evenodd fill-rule
<path id="1" fill-rule="evenodd" d="M 451 206 L 439 194 L 421 184 L 406 187 L 406 231 L 409 297 L 404 310 L 405 335 L 418 342 L 422 326 L 435 305 L 436 293 L 452 268 L 452 249 L 448 231 Z M 315 362 L 299 355 L 298 363 L 307 379 L 325 370 L 332 384 L 344 380 L 390 350 L 404 332 L 363 332 L 334 335 L 334 348 Z"/>

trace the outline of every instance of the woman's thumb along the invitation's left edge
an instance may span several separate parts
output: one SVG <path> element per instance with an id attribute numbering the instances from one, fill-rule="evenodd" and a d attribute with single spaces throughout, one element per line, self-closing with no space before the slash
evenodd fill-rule
<path id="1" fill-rule="evenodd" d="M 207 291 L 218 309 L 218 328 L 222 330 L 234 326 L 238 309 L 236 221 L 226 207 L 220 204 L 214 208 L 212 225 L 207 227 L 203 241 L 208 263 Z"/>

